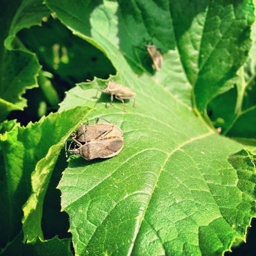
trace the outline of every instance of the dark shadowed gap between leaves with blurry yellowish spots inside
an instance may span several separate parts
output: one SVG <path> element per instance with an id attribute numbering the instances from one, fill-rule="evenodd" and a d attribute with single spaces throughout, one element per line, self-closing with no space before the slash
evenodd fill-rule
<path id="1" fill-rule="evenodd" d="M 44 70 L 68 83 L 66 90 L 74 83 L 93 79 L 93 76 L 107 78 L 109 74 L 115 74 L 111 62 L 102 52 L 74 36 L 56 17 L 49 17 L 42 27 L 22 30 L 18 36 L 36 53 Z"/>

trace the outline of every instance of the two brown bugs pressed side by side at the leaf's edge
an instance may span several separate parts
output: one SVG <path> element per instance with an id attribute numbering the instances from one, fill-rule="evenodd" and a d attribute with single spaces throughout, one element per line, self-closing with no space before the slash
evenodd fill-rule
<path id="1" fill-rule="evenodd" d="M 98 122 L 99 118 L 93 125 L 81 124 L 70 136 L 72 142 L 68 152 L 79 154 L 86 160 L 116 156 L 124 146 L 123 131 L 115 124 Z M 74 148 L 70 149 L 71 145 Z"/>

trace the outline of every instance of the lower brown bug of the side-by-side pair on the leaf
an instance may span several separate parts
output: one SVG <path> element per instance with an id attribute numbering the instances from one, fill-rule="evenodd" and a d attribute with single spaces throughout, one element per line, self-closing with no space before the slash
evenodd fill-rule
<path id="1" fill-rule="evenodd" d="M 77 142 L 78 148 L 68 150 L 71 154 L 79 154 L 86 160 L 95 158 L 109 158 L 116 156 L 124 147 L 123 137 L 106 137 L 102 140 L 93 140 L 84 145 Z"/>

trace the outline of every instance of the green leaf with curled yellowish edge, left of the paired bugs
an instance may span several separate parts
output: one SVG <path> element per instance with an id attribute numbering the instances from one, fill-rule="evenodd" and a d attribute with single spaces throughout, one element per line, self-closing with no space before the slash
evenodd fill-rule
<path id="1" fill-rule="evenodd" d="M 77 107 L 51 114 L 27 127 L 15 125 L 10 132 L 0 135 L 3 159 L 0 191 L 1 246 L 12 241 L 20 231 L 22 205 L 26 200 L 23 219 L 25 238 L 36 239 L 39 236 L 44 239 L 40 221 L 52 169 L 64 141 L 87 113 L 88 108 Z"/>

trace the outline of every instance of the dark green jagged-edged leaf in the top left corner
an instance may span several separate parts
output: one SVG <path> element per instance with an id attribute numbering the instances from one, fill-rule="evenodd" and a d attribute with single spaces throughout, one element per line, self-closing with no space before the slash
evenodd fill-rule
<path id="1" fill-rule="evenodd" d="M 23 28 L 41 24 L 42 18 L 49 13 L 42 0 L 3 1 L 1 6 L 0 122 L 10 111 L 26 107 L 22 94 L 26 89 L 38 86 L 38 60 L 35 54 L 15 41 L 15 35 Z M 15 48 L 19 49 L 13 49 L 13 40 Z"/>

